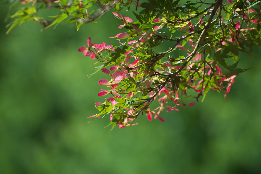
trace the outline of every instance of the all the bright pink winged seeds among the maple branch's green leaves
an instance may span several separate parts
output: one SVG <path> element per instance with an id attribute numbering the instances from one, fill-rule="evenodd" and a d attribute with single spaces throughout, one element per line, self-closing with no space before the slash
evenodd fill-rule
<path id="1" fill-rule="evenodd" d="M 229 2 L 232 2 L 233 1 L 229 1 Z M 252 11 L 249 10 L 249 12 L 251 13 Z M 129 41 L 128 46 L 130 47 L 138 47 L 144 43 L 146 43 L 151 37 L 152 37 L 152 32 L 147 34 L 146 35 L 146 32 L 145 33 L 141 33 L 142 29 L 141 28 L 137 28 L 137 26 L 135 24 L 132 24 L 132 19 L 129 18 L 129 17 L 124 17 L 122 16 L 120 13 L 117 14 L 117 13 L 113 13 L 118 19 L 122 20 L 123 21 L 123 25 L 120 25 L 118 28 L 122 28 L 126 25 L 132 25 L 133 27 L 133 33 L 131 34 L 128 34 L 128 33 L 119 33 L 117 34 L 115 37 L 110 37 L 110 38 L 117 38 L 117 39 L 125 39 L 125 38 L 128 38 L 128 37 L 131 37 L 132 35 L 134 34 L 137 34 L 140 36 L 140 39 L 139 40 L 132 40 L 132 41 Z M 245 16 L 247 17 L 247 16 Z M 164 20 L 164 16 L 162 19 L 155 19 L 153 20 L 153 22 L 161 22 Z M 254 22 L 256 23 L 257 21 L 251 21 L 251 22 Z M 201 24 L 203 23 L 203 21 L 201 21 Z M 162 25 L 163 23 L 158 23 L 158 26 L 157 27 L 154 27 L 154 32 L 157 32 L 156 30 Z M 184 27 L 181 27 L 181 29 L 185 29 L 187 31 L 190 31 L 190 28 L 193 28 L 193 24 L 191 22 L 189 22 L 187 24 L 187 27 L 184 26 Z M 240 27 L 240 21 L 237 21 L 236 22 L 236 29 L 239 29 Z M 240 29 L 240 30 L 249 30 L 249 29 L 252 29 L 252 28 L 247 28 L 247 29 Z M 191 32 L 191 31 L 190 31 Z M 238 39 L 235 39 L 236 34 L 235 32 L 233 32 L 232 30 L 230 30 L 231 32 L 231 38 L 232 39 L 226 39 L 227 42 L 233 42 L 235 40 L 238 40 Z M 146 36 L 146 37 L 145 37 Z M 223 41 L 222 44 L 226 44 L 226 41 Z M 240 41 L 240 40 L 239 40 Z M 237 41 L 236 41 L 237 42 Z M 121 42 L 119 42 L 120 44 L 122 45 L 125 45 Z M 188 40 L 188 44 L 189 46 L 191 46 L 193 49 L 195 49 L 195 43 L 192 39 L 189 39 Z M 236 43 L 237 44 L 237 43 Z M 177 47 L 181 50 L 187 50 L 187 54 L 190 55 L 191 54 L 191 51 L 189 48 L 186 48 L 185 46 L 181 46 L 181 45 L 177 45 Z M 221 48 L 215 50 L 216 52 L 217 51 L 220 51 Z M 99 56 L 102 57 L 102 53 L 105 52 L 105 55 L 106 55 L 106 51 L 109 52 L 110 51 L 115 51 L 115 49 L 113 48 L 112 45 L 107 45 L 106 46 L 106 43 L 103 42 L 102 44 L 94 44 L 94 43 L 91 43 L 91 38 L 89 37 L 88 40 L 87 40 L 87 46 L 84 46 L 84 47 L 80 47 L 78 49 L 79 52 L 83 52 L 83 54 L 85 56 L 90 56 L 91 59 L 96 59 L 98 58 L 99 59 Z M 102 68 L 101 70 L 111 76 L 110 77 L 110 80 L 107 80 L 107 79 L 101 79 L 99 80 L 99 85 L 104 85 L 104 86 L 107 86 L 107 87 L 110 87 L 110 90 L 103 90 L 101 89 L 102 91 L 98 93 L 99 96 L 105 96 L 107 94 L 112 94 L 113 96 L 112 97 L 109 97 L 108 99 L 106 99 L 108 102 L 111 102 L 112 106 L 114 106 L 115 104 L 117 104 L 118 102 L 115 100 L 116 98 L 122 98 L 121 94 L 119 94 L 120 92 L 119 91 L 124 91 L 123 89 L 118 89 L 118 85 L 117 83 L 121 82 L 123 79 L 128 79 L 128 78 L 134 78 L 135 75 L 138 74 L 137 70 L 139 69 L 139 65 L 140 64 L 152 64 L 152 62 L 150 61 L 140 61 L 139 57 L 135 56 L 135 61 L 131 64 L 130 61 L 131 61 L 131 57 L 134 57 L 134 56 L 130 56 L 129 54 L 131 53 L 134 53 L 133 50 L 130 50 L 130 51 L 127 51 L 125 53 L 125 59 L 123 61 L 123 63 L 121 65 L 112 65 L 112 67 L 110 67 L 110 70 L 108 70 L 107 68 Z M 196 66 L 196 63 L 194 61 L 197 61 L 197 60 L 201 60 L 201 54 L 196 52 L 197 54 L 194 56 L 193 60 L 192 60 L 192 63 L 187 65 L 185 68 L 188 70 L 188 71 L 194 71 L 194 67 Z M 211 65 L 213 63 L 210 62 L 209 65 Z M 227 93 L 230 91 L 230 88 L 231 86 L 233 85 L 234 83 L 234 79 L 235 79 L 235 75 L 233 76 L 230 76 L 228 78 L 225 77 L 225 75 L 222 73 L 222 70 L 218 67 L 218 66 L 215 66 L 216 68 L 216 72 L 212 72 L 213 69 L 211 69 L 209 67 L 209 65 L 206 65 L 205 68 L 208 69 L 208 71 L 206 71 L 207 75 L 211 75 L 212 73 L 212 77 L 215 77 L 215 76 L 218 76 L 218 78 L 215 79 L 215 82 L 216 82 L 216 86 L 217 88 L 213 88 L 213 87 L 210 87 L 211 89 L 215 89 L 215 90 L 220 90 L 220 91 L 223 91 L 225 89 L 225 95 L 224 95 L 224 98 L 226 98 L 227 96 Z M 160 65 L 164 70 L 159 70 L 157 71 L 157 73 L 168 73 L 168 74 L 172 74 L 173 72 L 175 72 L 176 70 L 180 69 L 181 66 L 172 66 L 170 65 L 170 62 L 169 63 L 163 63 Z M 194 67 L 193 67 L 194 66 Z M 175 70 L 175 71 L 173 71 Z M 113 73 L 111 73 L 111 71 L 114 71 Z M 202 73 L 202 70 L 201 69 L 198 69 L 197 71 L 198 73 Z M 149 74 L 149 69 L 148 68 L 145 68 L 144 72 L 141 72 L 141 73 L 144 73 L 144 77 L 149 75 L 149 77 L 152 77 L 154 75 L 151 75 Z M 144 78 L 144 77 L 141 77 L 141 78 Z M 187 85 L 191 88 L 194 88 L 195 89 L 195 92 L 202 92 L 204 91 L 204 86 L 202 86 L 202 81 L 203 80 L 198 80 L 197 83 L 195 83 L 197 79 L 194 77 L 193 79 L 193 82 L 191 80 L 188 80 L 186 81 Z M 227 85 L 226 86 L 223 86 L 223 82 L 224 81 L 227 81 Z M 155 85 L 153 84 L 153 80 L 150 80 L 150 79 L 146 79 L 144 78 L 144 81 L 142 81 L 143 85 L 141 85 L 143 88 L 138 88 L 137 90 L 145 93 L 145 89 L 151 89 L 151 85 Z M 181 95 L 186 95 L 186 92 L 187 92 L 187 89 L 184 89 L 182 92 L 181 92 Z M 163 96 L 162 96 L 163 94 Z M 126 94 L 123 94 L 123 95 L 126 95 Z M 158 98 L 158 102 L 160 104 L 159 107 L 157 107 L 156 109 L 154 110 L 151 110 L 149 107 L 147 107 L 147 118 L 149 120 L 152 120 L 152 116 L 154 116 L 154 119 L 158 118 L 160 121 L 164 122 L 164 119 L 162 117 L 159 116 L 159 113 L 165 109 L 164 108 L 164 105 L 167 104 L 169 101 L 172 101 L 175 106 L 166 106 L 167 107 L 167 112 L 169 111 L 172 111 L 172 110 L 176 110 L 176 111 L 179 111 L 179 109 L 177 109 L 176 107 L 184 107 L 184 106 L 193 106 L 195 105 L 195 102 L 191 102 L 191 103 L 187 103 L 187 104 L 184 104 L 182 103 L 181 101 L 179 101 L 179 99 L 181 99 L 181 97 L 179 96 L 179 92 L 176 90 L 170 90 L 166 87 L 163 87 L 158 93 L 157 95 L 153 95 L 153 92 L 150 92 L 149 93 L 150 97 L 152 96 L 155 96 L 154 97 L 154 100 L 156 100 L 156 98 Z M 134 93 L 132 91 L 130 91 L 125 99 L 129 99 L 129 98 L 132 98 L 134 97 Z M 104 105 L 105 103 L 96 103 L 95 105 L 96 106 L 100 106 L 100 105 Z M 146 102 L 143 103 L 143 105 L 145 106 L 146 105 Z M 134 110 L 132 108 L 126 108 L 125 110 L 127 110 L 127 114 L 130 115 L 130 116 L 135 116 L 135 113 L 137 113 L 138 111 L 137 110 Z M 110 115 L 110 120 L 112 120 L 112 117 L 113 116 L 113 112 L 111 113 Z M 97 116 L 97 115 L 93 115 L 93 116 L 90 116 L 90 117 L 100 117 L 100 116 Z M 88 118 L 90 118 L 88 117 Z M 125 118 L 123 122 L 121 123 L 118 123 L 119 125 L 119 128 L 122 128 L 122 127 L 126 127 L 126 126 L 129 126 L 129 125 L 134 125 L 134 124 L 131 124 L 131 122 L 133 122 L 135 118 L 134 117 L 128 117 L 128 118 Z M 138 124 L 138 123 L 136 123 Z"/>

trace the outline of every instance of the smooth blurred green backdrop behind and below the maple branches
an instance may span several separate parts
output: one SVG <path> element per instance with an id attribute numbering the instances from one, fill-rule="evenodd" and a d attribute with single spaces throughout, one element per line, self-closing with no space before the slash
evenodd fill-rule
<path id="1" fill-rule="evenodd" d="M 8 5 L 0 10 L 0 173 L 261 173 L 259 47 L 239 57 L 254 68 L 226 99 L 210 91 L 203 103 L 162 112 L 164 123 L 141 116 L 109 132 L 108 117 L 87 124 L 105 74 L 88 78 L 95 60 L 77 49 L 88 37 L 117 46 L 108 38 L 124 29 L 112 11 L 78 32 L 27 22 L 6 35 Z"/>

